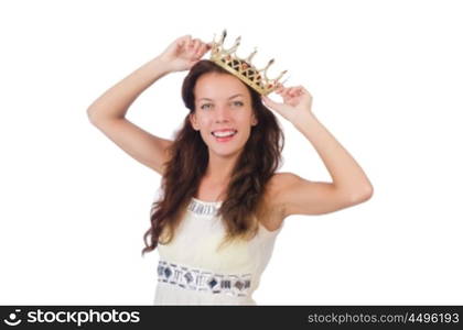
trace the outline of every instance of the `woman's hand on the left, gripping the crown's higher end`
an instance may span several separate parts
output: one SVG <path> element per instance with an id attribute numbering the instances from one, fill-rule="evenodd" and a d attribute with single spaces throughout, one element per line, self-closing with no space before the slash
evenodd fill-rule
<path id="1" fill-rule="evenodd" d="M 158 57 L 163 61 L 171 72 L 189 70 L 201 61 L 205 53 L 211 50 L 211 43 L 204 43 L 200 38 L 184 35 L 176 38 Z"/>

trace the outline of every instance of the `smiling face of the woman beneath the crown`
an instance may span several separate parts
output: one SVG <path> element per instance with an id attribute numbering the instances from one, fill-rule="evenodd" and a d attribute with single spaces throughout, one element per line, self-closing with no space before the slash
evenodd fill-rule
<path id="1" fill-rule="evenodd" d="M 217 155 L 239 153 L 257 124 L 247 87 L 233 75 L 209 73 L 194 87 L 195 111 L 190 114 L 194 130 Z"/>

